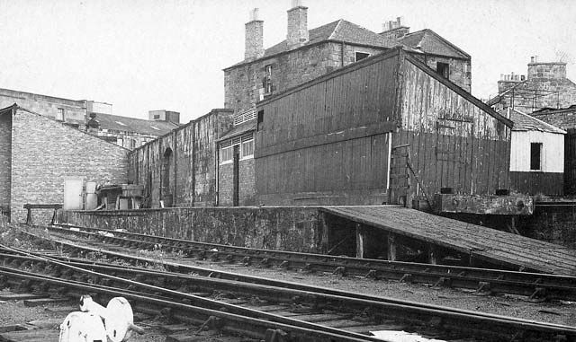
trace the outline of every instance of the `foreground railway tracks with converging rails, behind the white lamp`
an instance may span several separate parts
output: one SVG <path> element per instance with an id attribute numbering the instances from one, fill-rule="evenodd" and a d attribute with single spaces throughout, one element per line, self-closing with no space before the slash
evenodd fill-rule
<path id="1" fill-rule="evenodd" d="M 56 287 L 52 291 L 58 293 L 63 292 L 62 287 L 72 288 L 70 294 L 76 296 L 78 291 L 121 295 L 137 303 L 149 303 L 153 309 L 145 309 L 148 311 L 178 310 L 184 318 L 194 317 L 195 324 L 218 321 L 220 328 L 229 332 L 238 331 L 245 322 L 249 327 L 247 336 L 253 338 L 287 334 L 291 339 L 286 340 L 374 341 L 379 339 L 366 335 L 368 331 L 403 329 L 444 340 L 576 340 L 573 327 L 486 313 L 379 297 L 361 299 L 347 293 L 321 294 L 155 270 L 87 265 L 85 261 L 62 262 L 6 250 L 11 253 L 0 254 L 4 265 L 0 267 L 2 285 L 21 289 L 24 285 L 37 292 Z"/>

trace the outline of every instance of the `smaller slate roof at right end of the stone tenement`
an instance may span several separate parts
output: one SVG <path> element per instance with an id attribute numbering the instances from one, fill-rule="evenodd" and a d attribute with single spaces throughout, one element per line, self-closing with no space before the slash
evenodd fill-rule
<path id="1" fill-rule="evenodd" d="M 421 51 L 432 54 L 456 58 L 470 58 L 463 49 L 456 47 L 448 40 L 442 38 L 437 32 L 424 29 L 407 34 L 399 42 L 409 48 L 419 48 Z"/>

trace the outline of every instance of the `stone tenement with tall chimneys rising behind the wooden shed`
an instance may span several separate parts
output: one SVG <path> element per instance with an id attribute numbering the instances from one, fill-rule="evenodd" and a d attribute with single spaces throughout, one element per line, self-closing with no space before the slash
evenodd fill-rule
<path id="1" fill-rule="evenodd" d="M 286 39 L 263 47 L 264 21 L 257 9 L 246 23 L 244 60 L 224 69 L 224 105 L 237 112 L 257 101 L 311 81 L 335 69 L 402 46 L 412 49 L 438 74 L 470 92 L 471 57 L 431 30 L 410 33 L 401 19 L 386 22 L 376 33 L 339 19 L 308 29 L 308 7 L 293 1 L 288 10 Z"/>

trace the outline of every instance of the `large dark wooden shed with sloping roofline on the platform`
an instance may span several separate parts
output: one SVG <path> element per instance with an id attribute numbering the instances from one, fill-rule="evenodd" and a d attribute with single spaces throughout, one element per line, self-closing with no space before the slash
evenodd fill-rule
<path id="1" fill-rule="evenodd" d="M 257 104 L 259 203 L 374 205 L 509 187 L 512 123 L 394 48 Z"/>

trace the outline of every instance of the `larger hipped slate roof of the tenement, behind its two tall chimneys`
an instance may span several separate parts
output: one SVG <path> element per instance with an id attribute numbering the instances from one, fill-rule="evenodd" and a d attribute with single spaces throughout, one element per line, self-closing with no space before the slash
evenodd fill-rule
<path id="1" fill-rule="evenodd" d="M 369 45 L 377 48 L 393 48 L 398 45 L 398 43 L 391 39 L 386 39 L 374 31 L 370 31 L 360 25 L 356 25 L 356 23 L 348 22 L 344 19 L 339 19 L 336 22 L 329 22 L 315 29 L 311 29 L 308 31 L 308 37 L 309 40 L 305 45 L 312 45 L 328 40 L 343 41 L 345 43 L 357 45 Z M 283 40 L 270 48 L 266 48 L 264 58 L 272 57 L 288 50 L 288 43 L 286 40 Z M 245 63 L 246 61 L 242 61 L 234 66 L 239 66 Z"/>

